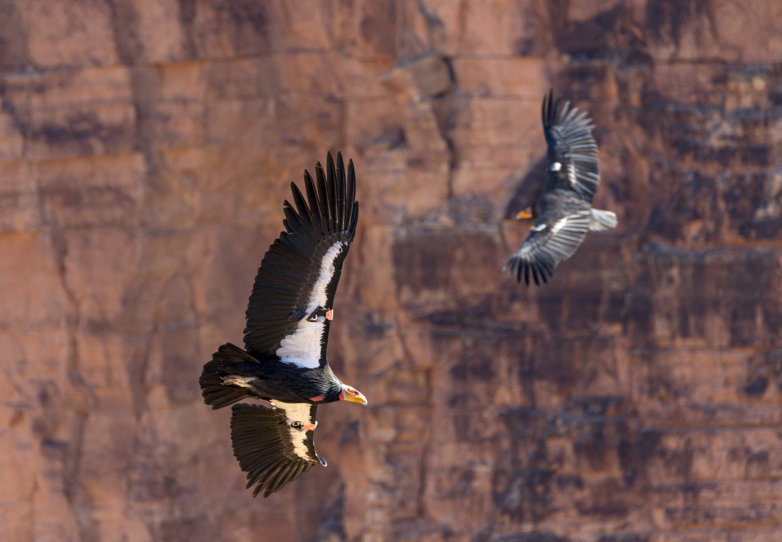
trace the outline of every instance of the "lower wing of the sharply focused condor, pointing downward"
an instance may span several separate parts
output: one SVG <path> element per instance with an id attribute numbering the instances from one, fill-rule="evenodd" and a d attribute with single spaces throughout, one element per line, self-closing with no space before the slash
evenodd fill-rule
<path id="1" fill-rule="evenodd" d="M 312 465 L 326 465 L 313 442 L 317 405 L 274 401 L 276 408 L 240 403 L 231 409 L 231 444 L 239 467 L 247 472 L 247 487 L 258 485 L 264 497 L 296 480 Z"/>

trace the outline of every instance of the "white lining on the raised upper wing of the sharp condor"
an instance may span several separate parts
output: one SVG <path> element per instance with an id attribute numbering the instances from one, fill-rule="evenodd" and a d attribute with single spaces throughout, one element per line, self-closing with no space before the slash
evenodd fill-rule
<path id="1" fill-rule="evenodd" d="M 310 298 L 307 300 L 307 313 L 296 326 L 296 330 L 280 341 L 275 352 L 280 360 L 305 369 L 315 369 L 321 364 L 321 337 L 325 329 L 325 318 L 318 316 L 314 322 L 308 322 L 307 316 L 318 307 L 326 305 L 326 287 L 335 273 L 334 262 L 346 244 L 337 241 L 328 248 L 321 259 L 321 270 L 313 284 Z"/>

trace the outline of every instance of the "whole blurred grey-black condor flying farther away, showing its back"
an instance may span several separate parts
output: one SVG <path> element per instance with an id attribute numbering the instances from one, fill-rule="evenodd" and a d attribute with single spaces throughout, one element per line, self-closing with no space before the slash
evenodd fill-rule
<path id="1" fill-rule="evenodd" d="M 569 259 L 588 231 L 616 226 L 611 211 L 592 208 L 600 183 L 594 125 L 587 112 L 570 102 L 554 102 L 550 92 L 543 98 L 543 134 L 548 146 L 548 168 L 543 194 L 533 207 L 519 212 L 518 219 L 535 219 L 529 235 L 505 264 L 511 276 L 529 285 L 548 281 L 554 268 Z"/>

